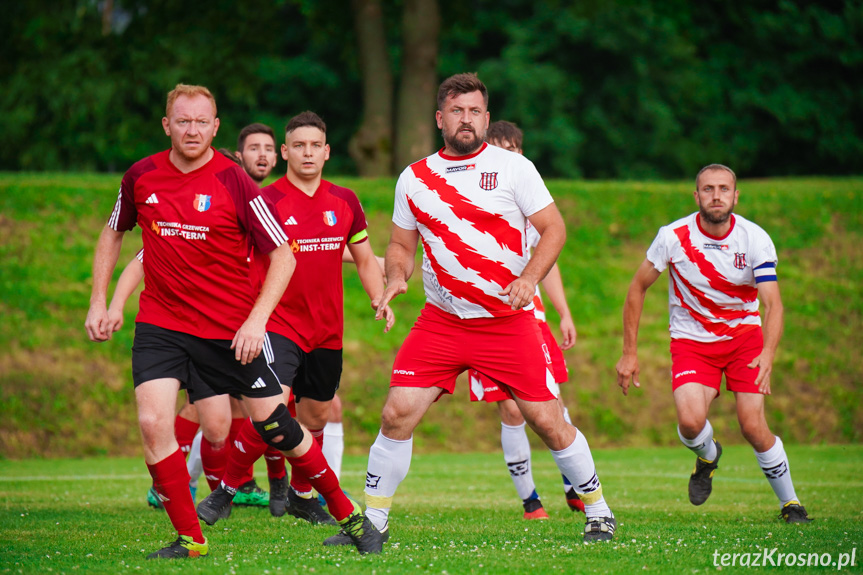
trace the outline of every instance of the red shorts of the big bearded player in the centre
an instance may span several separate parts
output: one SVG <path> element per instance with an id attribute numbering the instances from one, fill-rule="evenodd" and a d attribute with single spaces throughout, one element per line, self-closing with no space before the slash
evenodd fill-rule
<path id="1" fill-rule="evenodd" d="M 455 389 L 475 369 L 527 401 L 557 397 L 551 357 L 532 313 L 459 319 L 426 304 L 393 363 L 391 387 Z"/>

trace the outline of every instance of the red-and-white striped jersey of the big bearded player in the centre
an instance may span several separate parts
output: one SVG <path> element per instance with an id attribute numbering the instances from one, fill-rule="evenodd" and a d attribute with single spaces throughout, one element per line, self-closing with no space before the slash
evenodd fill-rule
<path id="1" fill-rule="evenodd" d="M 420 233 L 429 303 L 462 319 L 501 317 L 521 313 L 498 292 L 530 257 L 526 217 L 553 201 L 530 160 L 483 144 L 469 156 L 441 150 L 408 166 L 393 223 Z"/>

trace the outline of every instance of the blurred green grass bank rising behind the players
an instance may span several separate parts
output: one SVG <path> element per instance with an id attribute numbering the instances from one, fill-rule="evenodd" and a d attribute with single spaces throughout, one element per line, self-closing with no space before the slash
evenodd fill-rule
<path id="1" fill-rule="evenodd" d="M 392 180 L 333 178 L 363 201 L 372 245 L 389 237 Z M 136 304 L 105 344 L 83 330 L 96 238 L 120 176 L 0 174 L 0 455 L 130 454 L 139 450 L 129 354 Z M 786 330 L 774 366 L 768 420 L 786 442 L 863 438 L 863 179 L 741 181 L 737 211 L 771 234 L 779 252 Z M 641 391 L 615 383 L 621 306 L 656 230 L 694 210 L 691 182 L 552 181 L 567 222 L 559 263 L 578 329 L 566 353 L 564 398 L 592 445 L 677 441 L 669 391 L 665 278 L 642 319 Z M 127 234 L 121 262 L 140 247 Z M 122 265 L 118 267 L 119 275 Z M 115 277 L 116 277 L 115 275 Z M 392 358 L 422 306 L 418 275 L 397 300 L 389 334 L 372 320 L 356 272 L 345 268 L 347 446 L 367 450 L 377 432 Z M 556 327 L 556 316 L 550 314 Z M 741 441 L 730 394 L 711 421 L 723 443 Z M 469 441 L 464 438 L 469 437 Z M 464 385 L 435 405 L 418 430 L 419 451 L 498 445 L 496 410 L 471 405 Z"/>

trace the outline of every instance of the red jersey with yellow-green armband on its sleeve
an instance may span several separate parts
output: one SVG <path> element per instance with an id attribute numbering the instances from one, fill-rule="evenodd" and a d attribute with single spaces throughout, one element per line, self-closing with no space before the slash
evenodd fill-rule
<path id="1" fill-rule="evenodd" d="M 291 238 L 297 268 L 269 331 L 283 335 L 304 351 L 341 349 L 344 333 L 342 252 L 346 244 L 368 239 L 366 216 L 356 194 L 322 180 L 309 196 L 282 177 L 261 190 Z M 270 258 L 255 252 L 259 278 Z"/>

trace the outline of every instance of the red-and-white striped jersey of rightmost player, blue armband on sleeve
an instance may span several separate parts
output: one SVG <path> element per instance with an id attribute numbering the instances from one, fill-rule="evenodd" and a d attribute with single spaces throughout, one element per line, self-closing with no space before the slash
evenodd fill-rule
<path id="1" fill-rule="evenodd" d="M 669 268 L 672 339 L 724 341 L 761 325 L 756 284 L 776 281 L 777 257 L 758 225 L 732 214 L 731 230 L 716 238 L 696 212 L 660 228 L 647 259 Z"/>

